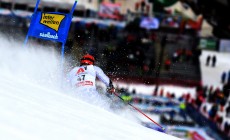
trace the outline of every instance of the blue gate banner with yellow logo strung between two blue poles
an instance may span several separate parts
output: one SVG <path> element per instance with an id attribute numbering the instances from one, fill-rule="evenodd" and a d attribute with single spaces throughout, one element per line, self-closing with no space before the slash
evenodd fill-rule
<path id="1" fill-rule="evenodd" d="M 65 43 L 72 17 L 57 12 L 36 12 L 31 21 L 29 36 Z"/>

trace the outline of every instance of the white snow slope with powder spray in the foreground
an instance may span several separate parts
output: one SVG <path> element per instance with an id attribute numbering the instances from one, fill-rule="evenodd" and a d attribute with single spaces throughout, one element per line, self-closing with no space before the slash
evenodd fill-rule
<path id="1" fill-rule="evenodd" d="M 52 47 L 0 37 L 0 136 L 4 140 L 178 140 L 59 88 Z M 87 94 L 87 93 L 84 93 Z M 127 114 L 125 116 L 124 114 Z"/>

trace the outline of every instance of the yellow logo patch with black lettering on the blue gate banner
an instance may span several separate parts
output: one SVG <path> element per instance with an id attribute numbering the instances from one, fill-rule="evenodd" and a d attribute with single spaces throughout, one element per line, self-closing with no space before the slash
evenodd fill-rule
<path id="1" fill-rule="evenodd" d="M 54 29 L 55 31 L 58 31 L 64 18 L 65 15 L 42 13 L 40 23 L 48 26 L 51 29 Z"/>

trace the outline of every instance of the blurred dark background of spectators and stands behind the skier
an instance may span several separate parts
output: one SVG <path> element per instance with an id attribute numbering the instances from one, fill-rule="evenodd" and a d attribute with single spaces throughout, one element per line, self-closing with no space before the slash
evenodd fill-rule
<path id="1" fill-rule="evenodd" d="M 24 40 L 35 2 L 0 0 L 1 33 Z M 39 10 L 68 13 L 71 4 L 71 0 L 41 0 Z M 83 54 L 90 53 L 115 81 L 154 85 L 148 95 L 135 88 L 117 88 L 127 102 L 160 116 L 159 122 L 169 126 L 172 135 L 227 140 L 229 9 L 227 0 L 79 0 L 65 57 L 76 66 Z M 29 43 L 61 48 L 35 38 Z M 195 93 L 165 91 L 162 85 L 190 87 Z"/>

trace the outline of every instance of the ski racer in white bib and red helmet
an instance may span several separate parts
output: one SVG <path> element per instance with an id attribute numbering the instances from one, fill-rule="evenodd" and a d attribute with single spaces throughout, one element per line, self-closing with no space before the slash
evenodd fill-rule
<path id="1" fill-rule="evenodd" d="M 98 78 L 106 85 L 108 93 L 114 93 L 115 88 L 112 80 L 100 67 L 95 66 L 94 62 L 95 58 L 90 54 L 86 54 L 81 58 L 80 66 L 73 68 L 68 75 L 71 86 L 81 93 L 98 94 L 96 90 L 96 78 Z"/>

